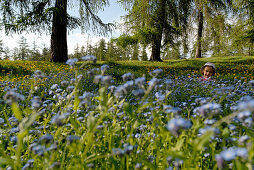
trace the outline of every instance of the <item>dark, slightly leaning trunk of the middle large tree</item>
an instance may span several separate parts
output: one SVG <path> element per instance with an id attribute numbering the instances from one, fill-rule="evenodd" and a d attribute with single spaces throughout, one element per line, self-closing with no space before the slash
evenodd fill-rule
<path id="1" fill-rule="evenodd" d="M 154 21 L 156 25 L 156 33 L 153 35 L 152 54 L 150 61 L 162 61 L 160 57 L 160 50 L 163 29 L 165 27 L 166 0 L 160 0 L 159 3 L 160 4 L 157 10 L 158 17 L 156 18 L 156 21 Z"/>

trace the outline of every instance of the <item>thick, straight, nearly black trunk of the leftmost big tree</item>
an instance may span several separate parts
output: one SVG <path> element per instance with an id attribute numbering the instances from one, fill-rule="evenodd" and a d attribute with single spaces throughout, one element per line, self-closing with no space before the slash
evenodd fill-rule
<path id="1" fill-rule="evenodd" d="M 66 62 L 67 48 L 67 0 L 56 0 L 51 34 L 51 61 Z"/>

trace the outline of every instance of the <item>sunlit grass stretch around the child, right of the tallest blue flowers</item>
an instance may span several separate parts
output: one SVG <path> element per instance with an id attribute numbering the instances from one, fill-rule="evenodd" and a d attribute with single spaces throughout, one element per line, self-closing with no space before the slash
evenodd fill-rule
<path id="1" fill-rule="evenodd" d="M 200 68 L 206 62 L 213 62 L 216 65 L 216 78 L 240 79 L 245 77 L 247 80 L 254 79 L 254 57 L 214 57 L 201 59 L 182 59 L 182 60 L 165 60 L 164 62 L 149 61 L 118 61 L 108 64 L 114 68 L 112 72 L 116 77 L 123 73 L 131 72 L 137 77 L 147 74 L 150 71 L 160 68 L 163 69 L 163 76 L 179 77 L 187 74 L 201 76 Z"/>

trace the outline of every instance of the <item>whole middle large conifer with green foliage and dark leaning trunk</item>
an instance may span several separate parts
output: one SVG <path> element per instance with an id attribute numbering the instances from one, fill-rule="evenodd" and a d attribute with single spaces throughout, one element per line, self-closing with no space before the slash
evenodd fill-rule
<path id="1" fill-rule="evenodd" d="M 189 0 L 121 0 L 129 14 L 125 25 L 141 44 L 152 47 L 151 61 L 162 61 L 161 46 L 173 44 L 184 33 L 189 15 Z"/>

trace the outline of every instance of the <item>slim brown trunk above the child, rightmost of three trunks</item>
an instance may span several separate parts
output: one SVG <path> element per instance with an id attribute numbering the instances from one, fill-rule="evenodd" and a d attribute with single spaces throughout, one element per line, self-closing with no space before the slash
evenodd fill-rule
<path id="1" fill-rule="evenodd" d="M 198 10 L 198 37 L 197 37 L 197 49 L 195 58 L 201 58 L 201 39 L 203 32 L 203 12 L 202 9 Z"/>

